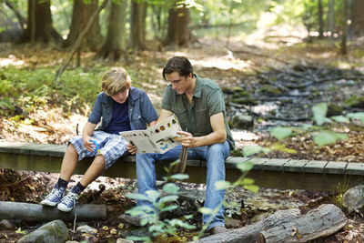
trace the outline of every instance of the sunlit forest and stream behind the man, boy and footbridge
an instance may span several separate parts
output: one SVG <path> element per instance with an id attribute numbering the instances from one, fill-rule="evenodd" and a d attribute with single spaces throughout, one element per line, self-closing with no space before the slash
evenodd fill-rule
<path id="1" fill-rule="evenodd" d="M 321 151 L 354 136 L 332 126 L 363 121 L 361 0 L 3 0 L 0 11 L 1 138 L 66 143 L 110 66 L 159 110 L 171 56 L 222 87 L 237 155 L 295 156 L 295 140 L 280 143 L 294 137 Z"/>

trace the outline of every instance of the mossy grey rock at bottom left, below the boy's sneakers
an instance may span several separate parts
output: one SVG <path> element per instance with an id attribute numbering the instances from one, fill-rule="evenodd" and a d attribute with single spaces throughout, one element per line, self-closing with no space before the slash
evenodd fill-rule
<path id="1" fill-rule="evenodd" d="M 63 243 L 69 238 L 68 229 L 62 220 L 56 219 L 40 228 L 35 229 L 32 233 L 19 239 L 18 243 L 37 242 L 37 243 Z"/>

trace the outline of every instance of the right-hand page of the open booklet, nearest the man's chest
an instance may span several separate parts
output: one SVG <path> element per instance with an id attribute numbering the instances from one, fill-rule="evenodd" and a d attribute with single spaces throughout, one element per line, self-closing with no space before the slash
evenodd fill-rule
<path id="1" fill-rule="evenodd" d="M 175 140 L 180 135 L 177 131 L 181 131 L 176 116 L 169 116 L 167 119 L 157 123 L 153 127 L 147 129 L 149 139 L 160 149 L 160 153 L 165 153 L 173 147 L 177 147 L 179 143 Z"/>

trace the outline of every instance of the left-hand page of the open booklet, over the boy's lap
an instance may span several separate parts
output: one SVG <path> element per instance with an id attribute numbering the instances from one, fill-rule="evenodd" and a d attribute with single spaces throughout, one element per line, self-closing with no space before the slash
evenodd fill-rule
<path id="1" fill-rule="evenodd" d="M 146 130 L 134 130 L 119 133 L 127 142 L 136 146 L 137 154 L 159 153 L 158 147 L 153 144 L 147 135 Z"/>

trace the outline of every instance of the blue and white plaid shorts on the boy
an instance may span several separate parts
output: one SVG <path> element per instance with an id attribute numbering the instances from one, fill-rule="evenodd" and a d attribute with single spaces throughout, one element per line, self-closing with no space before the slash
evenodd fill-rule
<path id="1" fill-rule="evenodd" d="M 119 157 L 128 154 L 127 141 L 120 135 L 95 131 L 91 137 L 96 141 L 100 153 L 105 157 L 105 169 L 111 167 Z M 81 135 L 72 137 L 69 142 L 76 148 L 78 161 L 84 157 L 96 157 L 96 151 L 90 152 L 84 147 Z"/>

